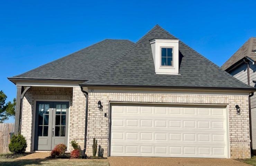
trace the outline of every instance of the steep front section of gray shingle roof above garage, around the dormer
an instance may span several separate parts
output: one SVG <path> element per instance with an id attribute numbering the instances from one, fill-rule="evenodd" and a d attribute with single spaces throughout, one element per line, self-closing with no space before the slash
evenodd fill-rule
<path id="1" fill-rule="evenodd" d="M 177 39 L 156 25 L 102 75 L 84 82 L 86 86 L 155 86 L 155 87 L 217 87 L 252 88 L 179 42 L 180 75 L 155 74 L 150 39 Z"/>

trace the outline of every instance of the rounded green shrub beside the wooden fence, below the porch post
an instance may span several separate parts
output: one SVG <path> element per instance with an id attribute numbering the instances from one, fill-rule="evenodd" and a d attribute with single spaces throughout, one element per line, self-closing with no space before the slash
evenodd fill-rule
<path id="1" fill-rule="evenodd" d="M 12 153 L 24 153 L 27 148 L 27 141 L 22 135 L 13 135 L 9 144 L 9 150 Z"/>

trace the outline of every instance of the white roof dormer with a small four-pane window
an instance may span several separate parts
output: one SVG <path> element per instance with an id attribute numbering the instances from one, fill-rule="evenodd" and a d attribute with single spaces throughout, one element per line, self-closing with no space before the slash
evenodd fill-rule
<path id="1" fill-rule="evenodd" d="M 179 74 L 179 39 L 151 39 L 156 74 Z"/>

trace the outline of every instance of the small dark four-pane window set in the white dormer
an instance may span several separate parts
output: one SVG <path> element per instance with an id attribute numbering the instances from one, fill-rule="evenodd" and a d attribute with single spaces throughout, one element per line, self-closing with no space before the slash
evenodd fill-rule
<path id="1" fill-rule="evenodd" d="M 161 48 L 161 66 L 172 66 L 172 48 Z"/>

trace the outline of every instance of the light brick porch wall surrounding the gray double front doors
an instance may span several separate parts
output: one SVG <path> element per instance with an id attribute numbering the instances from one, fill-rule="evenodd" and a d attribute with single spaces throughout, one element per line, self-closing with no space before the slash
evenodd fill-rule
<path id="1" fill-rule="evenodd" d="M 31 87 L 25 94 L 22 105 L 21 134 L 27 140 L 27 151 L 34 150 L 34 113 L 36 101 L 69 101 L 69 140 L 84 146 L 85 96 L 80 87 Z M 71 147 L 71 145 L 69 146 Z"/>

